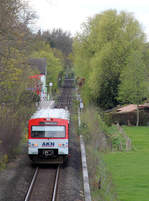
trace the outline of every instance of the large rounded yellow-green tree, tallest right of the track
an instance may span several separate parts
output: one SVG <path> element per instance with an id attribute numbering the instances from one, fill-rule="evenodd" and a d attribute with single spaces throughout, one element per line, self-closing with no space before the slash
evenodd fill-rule
<path id="1" fill-rule="evenodd" d="M 73 43 L 75 72 L 86 80 L 85 99 L 112 108 L 118 104 L 121 71 L 131 52 L 142 50 L 144 33 L 132 14 L 116 10 L 97 14 L 83 28 Z"/>

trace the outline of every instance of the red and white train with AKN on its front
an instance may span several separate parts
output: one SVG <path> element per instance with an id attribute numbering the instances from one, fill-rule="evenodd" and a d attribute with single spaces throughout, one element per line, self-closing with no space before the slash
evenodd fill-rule
<path id="1" fill-rule="evenodd" d="M 63 163 L 69 154 L 69 118 L 65 109 L 41 109 L 29 120 L 28 155 L 34 163 Z"/>

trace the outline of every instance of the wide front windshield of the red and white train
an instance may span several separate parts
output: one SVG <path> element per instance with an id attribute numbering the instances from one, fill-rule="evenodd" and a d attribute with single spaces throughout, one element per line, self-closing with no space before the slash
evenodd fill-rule
<path id="1" fill-rule="evenodd" d="M 32 138 L 64 138 L 65 126 L 32 126 Z"/>

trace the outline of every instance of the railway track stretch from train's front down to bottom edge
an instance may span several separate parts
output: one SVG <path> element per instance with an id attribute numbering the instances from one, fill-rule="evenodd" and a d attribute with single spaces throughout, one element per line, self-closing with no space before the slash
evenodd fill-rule
<path id="1" fill-rule="evenodd" d="M 24 201 L 56 201 L 60 166 L 37 167 Z"/>

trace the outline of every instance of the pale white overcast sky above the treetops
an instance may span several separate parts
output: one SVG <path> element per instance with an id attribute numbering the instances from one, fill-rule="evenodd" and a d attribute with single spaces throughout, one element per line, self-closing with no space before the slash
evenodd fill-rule
<path id="1" fill-rule="evenodd" d="M 132 12 L 149 39 L 149 0 L 28 0 L 39 19 L 36 29 L 62 28 L 73 35 L 88 17 L 107 9 Z"/>

